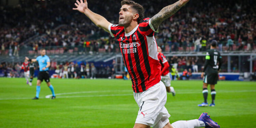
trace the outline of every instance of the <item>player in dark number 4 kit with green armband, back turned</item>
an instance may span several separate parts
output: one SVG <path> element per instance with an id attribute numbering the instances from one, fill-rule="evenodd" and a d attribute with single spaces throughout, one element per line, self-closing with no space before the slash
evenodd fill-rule
<path id="1" fill-rule="evenodd" d="M 203 98 L 204 102 L 198 104 L 198 106 L 208 106 L 207 96 L 208 96 L 208 85 L 210 84 L 212 103 L 209 106 L 215 106 L 215 84 L 218 81 L 218 71 L 221 69 L 222 57 L 221 53 L 216 49 L 217 41 L 213 40 L 211 43 L 210 50 L 207 51 L 205 56 L 205 63 L 201 77 L 203 78 Z M 205 73 L 204 73 L 205 72 Z"/>

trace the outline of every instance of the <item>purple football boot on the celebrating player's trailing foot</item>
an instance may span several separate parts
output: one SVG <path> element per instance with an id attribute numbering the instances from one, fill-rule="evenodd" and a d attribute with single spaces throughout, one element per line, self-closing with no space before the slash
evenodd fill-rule
<path id="1" fill-rule="evenodd" d="M 202 113 L 198 120 L 204 122 L 205 128 L 219 128 L 220 126 L 210 118 L 210 115 L 207 114 L 208 113 Z"/>

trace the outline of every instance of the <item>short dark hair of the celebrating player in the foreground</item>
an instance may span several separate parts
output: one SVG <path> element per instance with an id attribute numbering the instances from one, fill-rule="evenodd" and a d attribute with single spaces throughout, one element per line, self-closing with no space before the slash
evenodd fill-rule
<path id="1" fill-rule="evenodd" d="M 135 9 L 139 14 L 139 18 L 137 19 L 138 24 L 141 23 L 142 19 L 144 18 L 144 8 L 140 4 L 132 1 L 132 0 L 123 0 L 121 1 L 121 6 L 124 4 L 131 5 L 131 8 Z"/>

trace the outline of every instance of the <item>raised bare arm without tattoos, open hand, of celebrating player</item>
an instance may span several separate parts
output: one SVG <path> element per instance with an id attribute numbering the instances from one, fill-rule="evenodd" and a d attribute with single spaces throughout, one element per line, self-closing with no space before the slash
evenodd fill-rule
<path id="1" fill-rule="evenodd" d="M 84 13 L 88 18 L 90 18 L 90 20 L 95 25 L 97 25 L 100 28 L 103 28 L 106 32 L 109 32 L 108 27 L 111 23 L 109 23 L 108 20 L 106 20 L 103 16 L 89 10 L 86 0 L 84 0 L 84 2 L 83 0 L 80 0 L 80 2 L 76 0 L 75 6 L 77 8 L 73 8 L 73 10 L 77 10 L 81 13 Z"/>

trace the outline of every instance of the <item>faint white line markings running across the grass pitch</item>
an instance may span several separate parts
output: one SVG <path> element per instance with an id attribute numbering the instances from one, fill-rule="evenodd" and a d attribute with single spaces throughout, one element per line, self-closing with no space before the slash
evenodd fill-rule
<path id="1" fill-rule="evenodd" d="M 119 92 L 131 92 L 131 90 L 116 90 Z M 105 90 L 105 91 L 81 91 L 81 92 L 71 92 L 71 93 L 60 93 L 56 94 L 57 98 L 79 98 L 79 97 L 108 97 L 108 96 L 132 96 L 133 93 L 129 94 L 109 94 L 109 95 L 84 95 L 84 96 L 60 96 L 60 95 L 69 95 L 69 94 L 83 94 L 83 93 L 106 93 L 106 92 L 115 92 L 113 90 Z M 256 90 L 239 90 L 239 91 L 217 91 L 217 93 L 246 93 L 246 92 L 256 92 Z M 201 92 L 179 92 L 177 94 L 201 94 Z M 45 98 L 51 98 L 52 95 L 47 95 Z M 44 99 L 44 97 L 39 97 L 40 99 Z M 0 98 L 0 100 L 22 100 L 22 99 L 32 99 L 30 98 Z"/>

